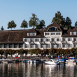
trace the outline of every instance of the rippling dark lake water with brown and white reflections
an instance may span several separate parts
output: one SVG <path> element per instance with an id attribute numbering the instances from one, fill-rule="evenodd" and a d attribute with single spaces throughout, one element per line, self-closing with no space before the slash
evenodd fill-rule
<path id="1" fill-rule="evenodd" d="M 0 77 L 77 77 L 77 65 L 1 63 Z"/>

